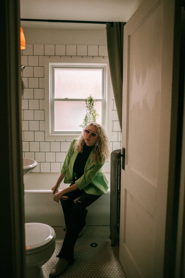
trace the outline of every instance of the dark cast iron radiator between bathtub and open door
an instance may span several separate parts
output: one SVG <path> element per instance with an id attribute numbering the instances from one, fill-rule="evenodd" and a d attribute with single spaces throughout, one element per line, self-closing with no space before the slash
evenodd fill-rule
<path id="1" fill-rule="evenodd" d="M 119 244 L 121 190 L 121 150 L 110 156 L 110 239 L 111 245 Z"/>

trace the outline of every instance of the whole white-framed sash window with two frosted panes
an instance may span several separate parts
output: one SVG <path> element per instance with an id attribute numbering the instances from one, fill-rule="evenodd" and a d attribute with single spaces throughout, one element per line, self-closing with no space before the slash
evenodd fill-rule
<path id="1" fill-rule="evenodd" d="M 93 60 L 93 63 L 92 63 Z M 76 61 L 76 59 L 75 59 Z M 106 124 L 107 60 L 51 61 L 45 66 L 46 137 L 73 136 L 82 131 L 86 114 L 85 98 L 96 100 L 97 122 Z M 49 109 L 47 109 L 49 108 Z"/>

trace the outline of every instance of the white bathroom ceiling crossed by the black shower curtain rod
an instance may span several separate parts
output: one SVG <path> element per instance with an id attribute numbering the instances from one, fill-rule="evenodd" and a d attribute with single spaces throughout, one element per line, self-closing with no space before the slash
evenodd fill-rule
<path id="1" fill-rule="evenodd" d="M 21 18 L 127 22 L 141 0 L 20 0 Z M 21 21 L 22 27 L 101 29 L 104 24 Z"/>

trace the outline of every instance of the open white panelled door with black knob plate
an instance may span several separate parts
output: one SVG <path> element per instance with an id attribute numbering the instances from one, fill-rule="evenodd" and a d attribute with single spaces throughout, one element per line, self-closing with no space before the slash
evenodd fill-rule
<path id="1" fill-rule="evenodd" d="M 173 30 L 174 0 L 144 0 L 124 26 L 120 262 L 127 278 L 163 277 Z"/>

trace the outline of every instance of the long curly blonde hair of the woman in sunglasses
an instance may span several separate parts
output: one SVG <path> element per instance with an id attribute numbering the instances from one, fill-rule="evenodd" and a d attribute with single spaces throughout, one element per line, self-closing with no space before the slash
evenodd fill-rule
<path id="1" fill-rule="evenodd" d="M 85 128 L 88 129 L 91 125 L 97 128 L 97 133 L 99 135 L 98 137 L 99 140 L 97 140 L 95 146 L 93 147 L 91 158 L 95 164 L 97 162 L 104 163 L 106 160 L 109 160 L 110 157 L 110 144 L 108 141 L 108 137 L 106 135 L 104 128 L 96 122 L 88 123 L 85 126 Z M 83 152 L 83 145 L 85 144 L 84 129 L 80 137 L 78 138 L 77 142 L 75 143 L 75 149 L 74 149 L 75 152 L 81 152 L 81 153 Z"/>

